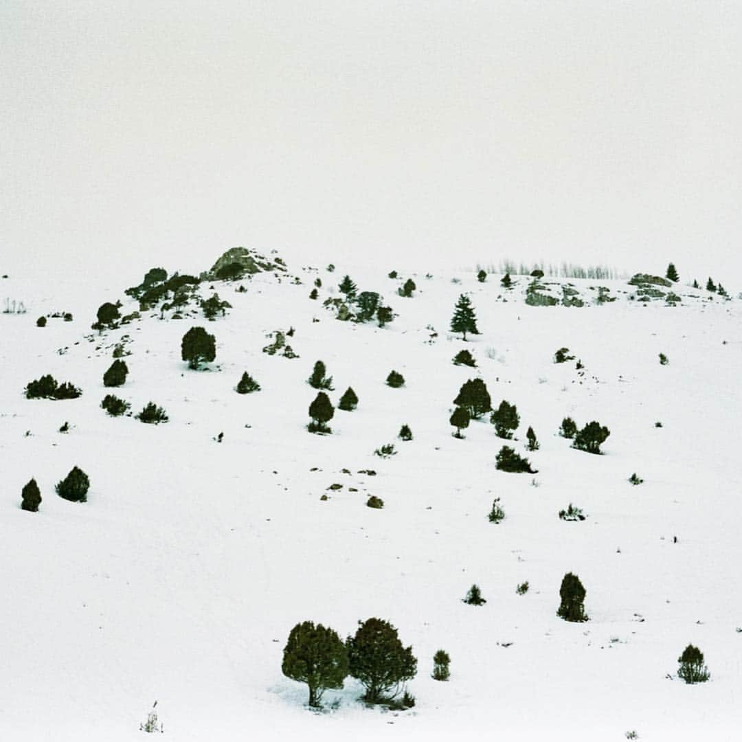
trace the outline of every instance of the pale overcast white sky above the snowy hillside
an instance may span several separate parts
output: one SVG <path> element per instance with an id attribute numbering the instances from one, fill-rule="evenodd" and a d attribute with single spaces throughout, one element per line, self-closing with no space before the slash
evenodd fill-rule
<path id="1" fill-rule="evenodd" d="M 128 280 L 244 245 L 723 280 L 740 39 L 712 0 L 3 0 L 0 263 Z"/>

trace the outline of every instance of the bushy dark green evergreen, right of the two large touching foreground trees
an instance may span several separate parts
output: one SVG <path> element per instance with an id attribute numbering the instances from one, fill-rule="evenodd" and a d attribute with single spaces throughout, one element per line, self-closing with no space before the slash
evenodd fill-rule
<path id="1" fill-rule="evenodd" d="M 413 648 L 402 646 L 388 621 L 370 618 L 358 623 L 355 636 L 346 642 L 350 674 L 366 689 L 368 703 L 394 698 L 417 673 Z"/>

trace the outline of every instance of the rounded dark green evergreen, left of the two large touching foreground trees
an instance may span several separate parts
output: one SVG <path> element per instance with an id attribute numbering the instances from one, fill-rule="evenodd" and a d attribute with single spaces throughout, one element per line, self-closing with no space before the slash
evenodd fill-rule
<path id="1" fill-rule="evenodd" d="M 332 628 L 312 621 L 292 628 L 283 649 L 281 672 L 309 686 L 309 706 L 320 705 L 328 688 L 342 688 L 348 674 L 348 653 Z"/>

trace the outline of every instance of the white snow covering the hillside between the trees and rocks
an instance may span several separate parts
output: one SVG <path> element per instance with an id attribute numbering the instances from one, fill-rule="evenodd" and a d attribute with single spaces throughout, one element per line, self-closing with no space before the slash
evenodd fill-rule
<path id="1" fill-rule="evenodd" d="M 216 281 L 234 307 L 226 318 L 160 320 L 157 310 L 100 335 L 89 328 L 101 303 L 137 309 L 125 286 L 103 291 L 93 276 L 82 289 L 48 276 L 0 281 L 0 293 L 28 309 L 0 315 L 1 739 L 141 740 L 154 700 L 174 742 L 593 742 L 632 730 L 646 741 L 739 738 L 737 301 L 678 286 L 680 306 L 645 304 L 629 300 L 625 281 L 573 280 L 584 307 L 526 306 L 522 276 L 505 291 L 500 276 L 452 283 L 421 268 L 413 298 L 396 295 L 409 276 L 341 265 L 289 266 L 301 285 L 256 275 L 245 293 Z M 336 320 L 322 301 L 338 297 L 346 272 L 398 318 L 383 329 Z M 311 301 L 317 276 L 324 286 Z M 598 285 L 617 301 L 595 304 L 589 287 Z M 482 333 L 466 343 L 448 332 L 462 292 Z M 211 295 L 208 285 L 201 293 Z M 54 311 L 74 320 L 36 327 Z M 203 371 L 180 360 L 193 324 L 217 338 Z M 289 326 L 300 358 L 261 352 L 270 332 Z M 131 336 L 128 380 L 106 389 L 122 335 Z M 451 363 L 464 347 L 476 369 Z M 581 372 L 575 361 L 554 364 L 560 347 Z M 306 430 L 316 395 L 306 378 L 318 359 L 334 378 L 333 404 L 349 385 L 360 398 L 355 412 L 335 411 L 331 436 Z M 404 387 L 384 384 L 392 369 Z M 243 371 L 260 392 L 235 393 Z M 82 397 L 25 399 L 25 384 L 45 373 L 82 387 Z M 477 376 L 494 406 L 517 405 L 509 444 L 536 475 L 496 470 L 507 441 L 486 416 L 464 439 L 452 436 L 453 398 Z M 99 407 L 107 393 L 131 401 L 132 413 L 154 401 L 170 421 L 111 418 Z M 557 435 L 565 416 L 610 428 L 603 456 Z M 65 421 L 70 432 L 59 433 Z M 404 423 L 412 441 L 396 438 Z M 529 425 L 540 443 L 533 453 Z M 385 443 L 396 456 L 373 455 Z M 91 479 L 85 504 L 54 493 L 73 465 Z M 378 475 L 358 473 L 367 469 Z M 628 483 L 633 472 L 642 485 Z M 31 477 L 39 513 L 20 509 Z M 334 483 L 343 487 L 328 490 Z M 370 495 L 384 508 L 368 508 Z M 496 497 L 506 517 L 494 525 Z M 584 522 L 558 518 L 569 503 Z M 568 571 L 587 590 L 588 623 L 557 617 Z M 516 594 L 526 580 L 528 592 Z M 474 582 L 481 607 L 462 602 Z M 280 672 L 292 626 L 314 620 L 345 637 L 372 616 L 413 645 L 416 706 L 367 708 L 349 678 L 326 692 L 324 712 L 310 712 L 306 686 Z M 705 654 L 708 683 L 676 677 L 688 643 Z M 445 683 L 430 677 L 438 649 L 451 657 Z"/>

